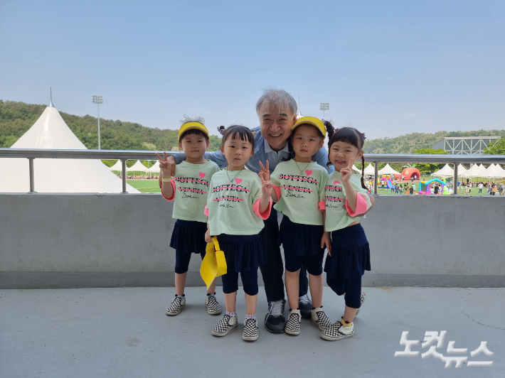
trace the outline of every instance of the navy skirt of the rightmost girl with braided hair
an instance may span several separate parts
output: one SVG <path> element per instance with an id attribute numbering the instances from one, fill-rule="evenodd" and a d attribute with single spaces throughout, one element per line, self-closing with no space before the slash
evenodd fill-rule
<path id="1" fill-rule="evenodd" d="M 331 232 L 331 256 L 324 263 L 327 277 L 358 279 L 370 269 L 370 246 L 359 223 Z"/>

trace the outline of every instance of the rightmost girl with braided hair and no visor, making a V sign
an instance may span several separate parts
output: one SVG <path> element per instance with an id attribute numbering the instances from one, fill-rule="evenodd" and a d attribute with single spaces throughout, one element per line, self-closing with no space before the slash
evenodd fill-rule
<path id="1" fill-rule="evenodd" d="M 352 166 L 361 158 L 365 135 L 351 127 L 337 129 L 329 139 L 329 164 L 335 166 L 326 184 L 325 234 L 331 232 L 331 249 L 324 264 L 326 283 L 338 295 L 345 295 L 346 308 L 341 320 L 321 332 L 325 340 L 341 340 L 354 334 L 353 319 L 365 301 L 361 276 L 370 270 L 370 249 L 356 214 L 371 207 L 363 171 L 354 174 Z M 342 204 L 345 203 L 345 207 Z"/>

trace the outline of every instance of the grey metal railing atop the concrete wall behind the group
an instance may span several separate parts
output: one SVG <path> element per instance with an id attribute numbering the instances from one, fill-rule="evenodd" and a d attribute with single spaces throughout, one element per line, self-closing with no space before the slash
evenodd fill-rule
<path id="1" fill-rule="evenodd" d="M 28 158 L 30 174 L 30 193 L 35 192 L 33 177 L 33 159 L 36 158 L 76 158 L 76 159 L 119 159 L 122 161 L 122 193 L 126 191 L 127 160 L 156 160 L 154 153 L 173 155 L 179 151 L 128 151 L 128 150 L 48 150 L 0 148 L 0 158 Z M 505 163 L 505 155 L 422 155 L 417 153 L 365 153 L 365 161 L 373 163 L 373 193 L 378 194 L 378 163 L 453 163 L 454 183 L 457 182 L 459 163 Z M 453 194 L 457 194 L 457 185 L 453 185 Z"/>

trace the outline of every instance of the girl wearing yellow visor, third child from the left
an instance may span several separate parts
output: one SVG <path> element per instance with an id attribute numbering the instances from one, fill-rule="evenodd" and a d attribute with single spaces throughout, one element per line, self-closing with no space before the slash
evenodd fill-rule
<path id="1" fill-rule="evenodd" d="M 288 161 L 278 164 L 272 173 L 276 210 L 282 212 L 280 242 L 284 248 L 286 291 L 289 317 L 285 333 L 299 335 L 302 315 L 298 308 L 299 271 L 302 265 L 309 272 L 312 296 L 312 320 L 321 330 L 331 325 L 322 311 L 324 246 L 329 247 L 329 235 L 324 237 L 324 185 L 326 169 L 312 161 L 324 144 L 326 131 L 334 132 L 329 122 L 314 117 L 302 117 L 292 127 L 292 153 Z M 267 163 L 268 164 L 268 163 Z M 262 167 L 263 168 L 263 167 Z M 260 175 L 267 178 L 268 165 Z"/>

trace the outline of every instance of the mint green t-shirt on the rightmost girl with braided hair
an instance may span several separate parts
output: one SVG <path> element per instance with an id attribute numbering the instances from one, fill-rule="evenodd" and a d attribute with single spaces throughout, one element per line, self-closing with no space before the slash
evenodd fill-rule
<path id="1" fill-rule="evenodd" d="M 361 175 L 359 173 L 351 175 L 351 185 L 358 193 L 364 193 L 366 199 L 366 208 L 369 209 L 372 205 L 368 191 L 361 186 Z M 358 194 L 359 195 L 359 194 Z M 342 229 L 355 220 L 363 217 L 349 217 L 347 210 L 342 207 L 346 204 L 346 188 L 342 185 L 340 172 L 332 173 L 326 183 L 326 221 L 324 222 L 324 231 L 335 231 Z"/>

